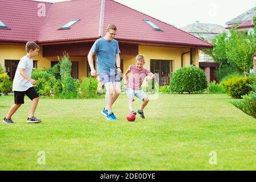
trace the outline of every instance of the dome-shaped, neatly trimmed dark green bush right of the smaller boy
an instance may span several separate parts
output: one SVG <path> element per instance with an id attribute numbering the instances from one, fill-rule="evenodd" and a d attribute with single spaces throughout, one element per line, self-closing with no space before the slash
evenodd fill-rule
<path id="1" fill-rule="evenodd" d="M 170 82 L 171 92 L 195 93 L 207 88 L 206 75 L 201 68 L 183 67 L 174 72 Z"/>

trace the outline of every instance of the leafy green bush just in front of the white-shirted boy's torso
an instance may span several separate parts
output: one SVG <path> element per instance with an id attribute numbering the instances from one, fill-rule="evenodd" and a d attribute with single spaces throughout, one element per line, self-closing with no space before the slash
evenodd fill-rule
<path id="1" fill-rule="evenodd" d="M 53 88 L 56 78 L 48 73 L 45 69 L 35 69 L 32 76 L 37 84 L 34 85 L 35 90 L 41 96 L 50 96 L 50 90 Z"/>

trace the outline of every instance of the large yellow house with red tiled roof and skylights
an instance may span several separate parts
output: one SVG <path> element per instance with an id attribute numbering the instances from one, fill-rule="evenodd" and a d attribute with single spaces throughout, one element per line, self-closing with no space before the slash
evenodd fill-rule
<path id="1" fill-rule="evenodd" d="M 177 69 L 199 67 L 199 49 L 213 46 L 185 31 L 113 0 L 75 0 L 58 3 L 31 0 L 0 1 L 0 64 L 14 77 L 28 40 L 41 47 L 34 67 L 49 68 L 63 52 L 69 53 L 73 78 L 88 76 L 87 61 L 94 41 L 105 36 L 107 24 L 118 32 L 121 69 L 146 57 L 145 67 L 159 74 L 159 84 L 169 84 Z"/>

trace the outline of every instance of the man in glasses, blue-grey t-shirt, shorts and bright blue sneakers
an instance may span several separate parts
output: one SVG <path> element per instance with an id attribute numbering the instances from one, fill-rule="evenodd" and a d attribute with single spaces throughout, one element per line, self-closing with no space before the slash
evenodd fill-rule
<path id="1" fill-rule="evenodd" d="M 117 121 L 112 105 L 121 93 L 120 77 L 120 50 L 115 36 L 117 27 L 109 24 L 106 28 L 106 35 L 97 39 L 88 53 L 88 61 L 91 68 L 91 76 L 97 76 L 93 65 L 93 56 L 97 55 L 97 72 L 102 86 L 106 88 L 106 106 L 101 113 L 110 121 Z M 115 68 L 115 65 L 117 68 Z"/>

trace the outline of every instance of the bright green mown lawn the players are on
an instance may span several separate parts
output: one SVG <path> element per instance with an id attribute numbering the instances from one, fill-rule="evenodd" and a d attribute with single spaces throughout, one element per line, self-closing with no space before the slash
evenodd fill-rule
<path id="1" fill-rule="evenodd" d="M 161 94 L 146 119 L 127 122 L 126 95 L 114 105 L 118 122 L 100 113 L 105 100 L 41 98 L 28 124 L 28 98 L 0 123 L 1 170 L 255 170 L 256 119 L 230 104 L 226 94 Z M 1 120 L 13 96 L 0 97 Z M 134 109 L 141 102 L 134 102 Z M 38 152 L 46 154 L 39 165 Z M 217 164 L 209 164 L 211 151 Z"/>

